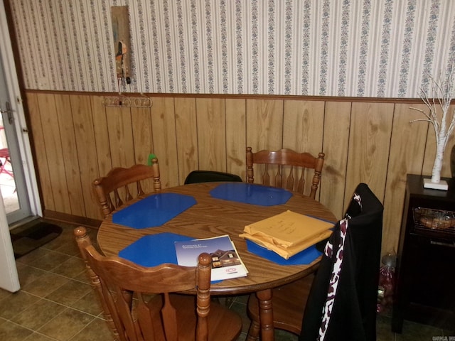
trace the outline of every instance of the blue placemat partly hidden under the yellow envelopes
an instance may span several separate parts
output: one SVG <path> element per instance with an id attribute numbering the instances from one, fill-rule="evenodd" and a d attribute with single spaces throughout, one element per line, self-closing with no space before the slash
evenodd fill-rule
<path id="1" fill-rule="evenodd" d="M 261 256 L 262 258 L 268 259 L 269 261 L 273 261 L 279 265 L 303 265 L 303 264 L 310 264 L 316 258 L 321 256 L 322 252 L 316 249 L 316 245 L 309 247 L 308 249 L 304 249 L 304 251 L 300 251 L 298 254 L 294 254 L 294 256 L 289 257 L 289 259 L 284 259 L 279 254 L 275 253 L 274 251 L 270 251 L 264 247 L 259 246 L 255 242 L 252 242 L 248 239 L 247 241 L 247 249 L 252 254 L 256 254 L 257 256 Z"/>

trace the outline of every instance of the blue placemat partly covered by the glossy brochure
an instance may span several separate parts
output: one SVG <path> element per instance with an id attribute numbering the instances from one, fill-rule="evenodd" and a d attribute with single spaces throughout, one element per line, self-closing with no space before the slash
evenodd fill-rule
<path id="1" fill-rule="evenodd" d="M 150 234 L 125 247 L 119 256 L 141 266 L 158 266 L 164 263 L 177 264 L 174 242 L 193 238 L 170 232 Z"/>

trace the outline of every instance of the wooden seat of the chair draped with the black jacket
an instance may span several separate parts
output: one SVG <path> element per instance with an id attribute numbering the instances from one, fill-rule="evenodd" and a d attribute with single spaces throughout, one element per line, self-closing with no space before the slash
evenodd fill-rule
<path id="1" fill-rule="evenodd" d="M 304 317 L 306 300 L 309 295 L 311 284 L 314 280 L 314 274 L 310 274 L 298 281 L 289 283 L 272 291 L 272 306 L 274 328 L 288 330 L 299 335 L 301 330 L 301 321 Z M 248 315 L 256 326 L 259 323 L 259 302 L 255 294 L 250 295 L 248 300 Z M 289 312 L 292 312 L 291 314 Z M 259 325 L 257 325 L 259 328 Z M 257 333 L 250 333 L 257 335 Z"/>

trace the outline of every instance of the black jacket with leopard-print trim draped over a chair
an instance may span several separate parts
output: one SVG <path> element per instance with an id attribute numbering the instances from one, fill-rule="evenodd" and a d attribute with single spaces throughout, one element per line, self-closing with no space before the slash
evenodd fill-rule
<path id="1" fill-rule="evenodd" d="M 383 206 L 360 183 L 311 286 L 299 340 L 374 341 Z"/>

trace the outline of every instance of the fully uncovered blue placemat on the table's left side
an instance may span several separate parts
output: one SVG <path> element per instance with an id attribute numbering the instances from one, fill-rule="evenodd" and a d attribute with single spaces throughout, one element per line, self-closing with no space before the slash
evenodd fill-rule
<path id="1" fill-rule="evenodd" d="M 115 212 L 112 222 L 134 229 L 161 226 L 195 204 L 196 199 L 189 195 L 154 194 Z"/>

